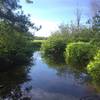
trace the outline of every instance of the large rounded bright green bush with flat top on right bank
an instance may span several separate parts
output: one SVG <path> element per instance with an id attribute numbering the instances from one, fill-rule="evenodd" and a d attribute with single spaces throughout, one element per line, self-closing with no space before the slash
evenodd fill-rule
<path id="1" fill-rule="evenodd" d="M 95 48 L 90 43 L 70 43 L 66 47 L 66 62 L 72 66 L 84 67 L 93 58 Z"/>

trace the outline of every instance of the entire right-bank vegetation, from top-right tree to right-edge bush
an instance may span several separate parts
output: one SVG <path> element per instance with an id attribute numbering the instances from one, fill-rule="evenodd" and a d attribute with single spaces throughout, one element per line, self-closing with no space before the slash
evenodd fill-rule
<path id="1" fill-rule="evenodd" d="M 89 27 L 61 24 L 59 30 L 43 42 L 41 50 L 51 59 L 55 55 L 58 58 L 65 55 L 67 64 L 73 68 L 88 66 L 85 71 L 88 70 L 94 80 L 100 81 L 100 11 L 88 23 Z"/>

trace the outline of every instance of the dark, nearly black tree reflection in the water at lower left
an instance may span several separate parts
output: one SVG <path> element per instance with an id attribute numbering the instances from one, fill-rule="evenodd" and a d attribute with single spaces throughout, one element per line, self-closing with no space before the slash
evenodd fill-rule
<path id="1" fill-rule="evenodd" d="M 0 100 L 18 100 L 24 98 L 21 84 L 31 80 L 28 75 L 30 68 L 31 65 L 18 66 L 7 72 L 0 72 Z M 31 89 L 30 87 L 27 87 L 24 91 Z"/>

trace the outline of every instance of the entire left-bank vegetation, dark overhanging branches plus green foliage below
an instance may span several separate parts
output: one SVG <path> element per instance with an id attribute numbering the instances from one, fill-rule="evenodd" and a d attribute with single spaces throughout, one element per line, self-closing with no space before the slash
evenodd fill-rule
<path id="1" fill-rule="evenodd" d="M 33 52 L 30 27 L 39 30 L 16 0 L 0 0 L 0 69 L 30 60 Z"/>

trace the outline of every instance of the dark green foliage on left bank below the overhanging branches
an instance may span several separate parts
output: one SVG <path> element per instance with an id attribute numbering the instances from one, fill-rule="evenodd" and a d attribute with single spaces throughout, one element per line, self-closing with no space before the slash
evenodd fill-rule
<path id="1" fill-rule="evenodd" d="M 30 34 L 18 32 L 7 22 L 0 22 L 0 64 L 22 63 L 32 55 Z"/>

